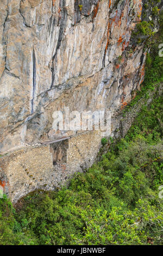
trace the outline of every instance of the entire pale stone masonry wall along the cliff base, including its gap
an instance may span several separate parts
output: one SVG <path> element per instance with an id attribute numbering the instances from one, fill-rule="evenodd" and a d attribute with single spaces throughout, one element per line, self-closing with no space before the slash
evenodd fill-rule
<path id="1" fill-rule="evenodd" d="M 143 105 L 149 105 L 156 90 L 161 94 L 163 83 L 149 99 L 143 96 L 125 117 L 121 111 L 111 119 L 111 136 L 122 138 Z M 147 92 L 148 93 L 148 92 Z M 56 190 L 76 172 L 84 172 L 95 162 L 101 147 L 102 133 L 91 131 L 51 145 L 35 145 L 0 157 L 0 181 L 4 192 L 16 203 L 37 189 Z"/>

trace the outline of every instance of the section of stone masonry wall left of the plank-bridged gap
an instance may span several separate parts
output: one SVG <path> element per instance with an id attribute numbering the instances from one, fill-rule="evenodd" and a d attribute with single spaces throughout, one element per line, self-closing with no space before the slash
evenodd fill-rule
<path id="1" fill-rule="evenodd" d="M 16 202 L 36 188 L 53 189 L 53 161 L 49 146 L 28 147 L 0 157 L 4 192 Z"/>

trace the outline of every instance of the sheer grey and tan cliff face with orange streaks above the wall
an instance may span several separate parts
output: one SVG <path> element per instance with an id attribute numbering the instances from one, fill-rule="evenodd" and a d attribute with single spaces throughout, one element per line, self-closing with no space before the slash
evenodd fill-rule
<path id="1" fill-rule="evenodd" d="M 141 0 L 1 0 L 0 153 L 73 135 L 53 112 L 116 111 L 144 76 Z"/>

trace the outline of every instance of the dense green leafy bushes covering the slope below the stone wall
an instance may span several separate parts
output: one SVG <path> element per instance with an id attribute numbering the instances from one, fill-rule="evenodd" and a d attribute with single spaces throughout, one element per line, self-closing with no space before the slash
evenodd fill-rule
<path id="1" fill-rule="evenodd" d="M 1 245 L 161 245 L 162 97 L 68 188 L 37 191 L 16 210 L 0 199 Z"/>

